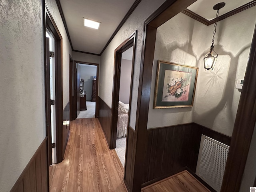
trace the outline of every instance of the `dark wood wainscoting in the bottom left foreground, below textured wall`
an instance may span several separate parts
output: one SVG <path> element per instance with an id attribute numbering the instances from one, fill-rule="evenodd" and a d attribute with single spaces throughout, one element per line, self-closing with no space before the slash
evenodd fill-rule
<path id="1" fill-rule="evenodd" d="M 39 159 L 38 159 L 39 157 Z M 37 161 L 38 160 L 38 161 Z M 49 191 L 49 169 L 48 169 L 48 152 L 47 152 L 47 136 L 44 138 L 30 161 L 28 162 L 27 166 L 24 168 L 22 173 L 20 174 L 18 180 L 15 182 L 14 186 L 10 190 L 10 192 L 20 192 L 20 191 L 26 191 L 24 186 L 24 179 L 26 178 L 27 174 L 30 174 L 31 167 L 34 165 L 38 165 L 40 162 L 40 172 L 41 173 L 41 180 L 36 181 L 36 188 L 38 186 L 41 186 L 41 191 Z M 36 171 L 36 167 L 35 167 Z M 36 173 L 34 173 L 36 174 Z M 38 176 L 38 174 L 36 174 Z M 36 180 L 34 178 L 34 180 Z M 23 187 L 23 190 L 20 189 L 20 187 Z M 40 191 L 40 190 L 37 190 Z"/>

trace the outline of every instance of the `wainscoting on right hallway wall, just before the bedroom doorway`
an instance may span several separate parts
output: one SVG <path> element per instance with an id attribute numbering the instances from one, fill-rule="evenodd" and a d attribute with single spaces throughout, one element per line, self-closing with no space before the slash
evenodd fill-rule
<path id="1" fill-rule="evenodd" d="M 105 138 L 108 143 L 108 147 L 110 147 L 110 135 L 111 135 L 111 108 L 102 100 L 102 98 L 98 97 L 99 101 L 99 121 L 104 132 Z"/>

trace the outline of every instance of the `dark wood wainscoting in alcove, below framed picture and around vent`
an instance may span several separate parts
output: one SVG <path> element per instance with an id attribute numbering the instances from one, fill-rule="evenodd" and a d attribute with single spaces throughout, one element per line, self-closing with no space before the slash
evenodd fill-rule
<path id="1" fill-rule="evenodd" d="M 142 187 L 185 169 L 195 174 L 202 134 L 230 145 L 229 136 L 196 123 L 147 130 Z"/>

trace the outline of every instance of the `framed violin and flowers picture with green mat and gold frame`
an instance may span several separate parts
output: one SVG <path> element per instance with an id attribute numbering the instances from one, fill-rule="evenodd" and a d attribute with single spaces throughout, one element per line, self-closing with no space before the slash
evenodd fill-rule
<path id="1" fill-rule="evenodd" d="M 153 109 L 192 107 L 198 67 L 158 60 Z"/>

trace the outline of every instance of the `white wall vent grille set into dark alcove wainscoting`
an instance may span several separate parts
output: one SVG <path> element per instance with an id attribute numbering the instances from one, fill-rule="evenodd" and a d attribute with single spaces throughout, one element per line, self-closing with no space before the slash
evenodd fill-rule
<path id="1" fill-rule="evenodd" d="M 205 135 L 201 137 L 196 174 L 220 192 L 229 146 Z"/>

